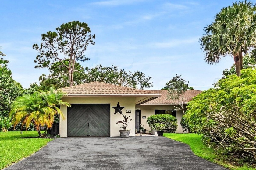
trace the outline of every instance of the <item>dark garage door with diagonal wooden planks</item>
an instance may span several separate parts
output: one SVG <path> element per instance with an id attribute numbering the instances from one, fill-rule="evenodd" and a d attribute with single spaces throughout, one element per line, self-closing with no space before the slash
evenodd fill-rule
<path id="1" fill-rule="evenodd" d="M 110 104 L 71 104 L 68 136 L 110 136 Z"/>

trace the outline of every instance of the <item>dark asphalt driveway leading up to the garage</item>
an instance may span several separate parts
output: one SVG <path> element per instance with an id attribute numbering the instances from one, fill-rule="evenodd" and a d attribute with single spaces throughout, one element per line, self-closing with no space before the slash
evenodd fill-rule
<path id="1" fill-rule="evenodd" d="M 5 170 L 224 170 L 165 137 L 57 138 Z"/>

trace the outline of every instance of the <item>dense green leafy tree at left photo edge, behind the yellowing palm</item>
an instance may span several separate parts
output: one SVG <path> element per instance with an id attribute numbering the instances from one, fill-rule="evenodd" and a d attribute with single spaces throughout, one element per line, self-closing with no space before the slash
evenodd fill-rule
<path id="1" fill-rule="evenodd" d="M 1 52 L 1 56 L 4 56 Z M 0 117 L 8 116 L 13 100 L 23 94 L 20 83 L 12 78 L 7 68 L 9 61 L 0 58 Z"/>

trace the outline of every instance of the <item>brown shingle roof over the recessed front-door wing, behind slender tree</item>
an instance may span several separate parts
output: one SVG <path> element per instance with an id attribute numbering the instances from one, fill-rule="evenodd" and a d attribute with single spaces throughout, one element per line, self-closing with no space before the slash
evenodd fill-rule
<path id="1" fill-rule="evenodd" d="M 168 90 L 147 90 L 149 92 L 152 92 L 152 93 L 158 93 L 158 94 L 162 94 L 161 97 L 158 97 L 156 99 L 153 99 L 153 100 L 150 100 L 142 105 L 161 105 L 161 104 L 175 104 L 177 103 L 177 101 L 175 100 L 168 100 L 167 99 L 167 96 L 168 96 Z M 193 97 L 197 96 L 197 94 L 200 94 L 202 91 L 200 90 L 187 90 L 184 94 L 184 102 L 187 103 L 189 101 L 192 100 Z"/>

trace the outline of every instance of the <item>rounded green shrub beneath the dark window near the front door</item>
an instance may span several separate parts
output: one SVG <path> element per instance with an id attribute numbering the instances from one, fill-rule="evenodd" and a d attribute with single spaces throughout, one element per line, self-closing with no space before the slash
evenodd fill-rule
<path id="1" fill-rule="evenodd" d="M 176 117 L 170 114 L 156 114 L 147 118 L 147 124 L 149 126 L 155 123 L 164 124 L 168 133 L 175 133 L 178 127 Z"/>

